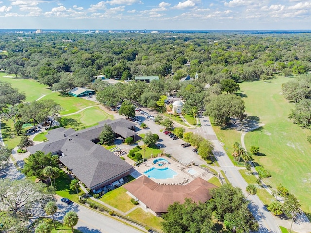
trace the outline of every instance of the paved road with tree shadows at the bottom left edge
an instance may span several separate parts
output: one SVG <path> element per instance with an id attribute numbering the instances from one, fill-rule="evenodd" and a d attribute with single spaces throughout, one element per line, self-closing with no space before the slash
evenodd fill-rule
<path id="1" fill-rule="evenodd" d="M 66 205 L 60 202 L 60 198 L 57 198 L 58 210 L 55 215 L 55 219 L 62 221 L 65 214 L 69 210 L 77 212 L 79 216 L 79 222 L 75 226 L 76 229 L 83 233 L 141 233 L 146 232 L 142 228 L 141 230 L 135 229 L 131 226 L 125 225 L 109 216 L 102 215 L 93 210 L 81 206 L 78 204 Z M 140 228 L 140 227 L 138 227 Z"/>

